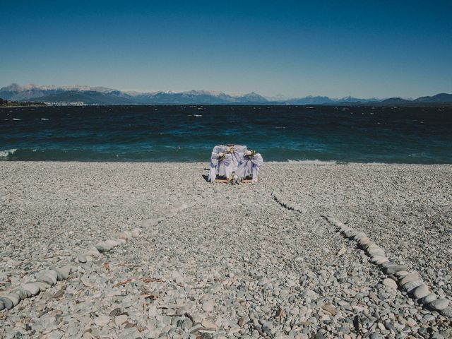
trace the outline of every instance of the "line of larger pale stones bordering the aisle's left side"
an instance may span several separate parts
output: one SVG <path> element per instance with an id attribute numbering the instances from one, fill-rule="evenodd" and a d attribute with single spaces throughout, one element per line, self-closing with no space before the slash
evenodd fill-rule
<path id="1" fill-rule="evenodd" d="M 103 253 L 111 251 L 116 246 L 125 245 L 129 240 L 138 237 L 141 233 L 142 228 L 149 228 L 157 225 L 159 222 L 165 220 L 165 218 L 171 218 L 177 215 L 181 210 L 189 208 L 191 206 L 182 204 L 170 210 L 165 216 L 155 219 L 144 219 L 141 222 L 141 228 L 133 228 L 133 230 L 123 231 L 118 234 L 117 239 L 108 239 L 105 242 L 98 242 L 90 249 L 83 252 L 83 254 L 78 254 L 75 261 L 76 263 L 86 263 L 87 261 L 93 261 L 95 256 L 101 256 Z M 77 270 L 76 267 L 68 264 L 66 266 L 57 267 L 51 266 L 47 270 L 42 270 L 36 273 L 35 281 L 25 283 L 20 287 L 11 290 L 8 294 L 0 297 L 0 311 L 4 309 L 12 309 L 19 304 L 19 302 L 25 298 L 34 297 L 40 292 L 47 290 L 47 288 L 56 285 L 60 280 L 66 280 L 69 275 Z"/>

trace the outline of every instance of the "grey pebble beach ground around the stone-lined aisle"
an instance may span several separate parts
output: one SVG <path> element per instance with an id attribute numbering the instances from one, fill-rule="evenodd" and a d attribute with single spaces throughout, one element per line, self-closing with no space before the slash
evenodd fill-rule
<path id="1" fill-rule="evenodd" d="M 0 162 L 0 295 L 72 272 L 0 311 L 0 337 L 452 338 L 451 317 L 383 283 L 322 217 L 452 302 L 452 166 L 265 164 L 259 184 L 237 186 L 208 184 L 205 167 Z"/>

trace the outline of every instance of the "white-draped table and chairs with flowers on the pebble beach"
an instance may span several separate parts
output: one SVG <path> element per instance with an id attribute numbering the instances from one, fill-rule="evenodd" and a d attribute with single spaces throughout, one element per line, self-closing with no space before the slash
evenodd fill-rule
<path id="1" fill-rule="evenodd" d="M 216 145 L 210 156 L 208 182 L 258 182 L 263 158 L 245 145 Z"/>

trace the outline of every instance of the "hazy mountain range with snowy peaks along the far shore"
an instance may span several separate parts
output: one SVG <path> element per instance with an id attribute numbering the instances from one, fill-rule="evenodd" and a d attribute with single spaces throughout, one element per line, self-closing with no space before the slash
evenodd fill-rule
<path id="1" fill-rule="evenodd" d="M 84 105 L 439 105 L 452 103 L 452 94 L 440 93 L 418 97 L 415 100 L 391 97 L 360 99 L 343 97 L 332 99 L 325 96 L 307 96 L 292 99 L 268 99 L 251 92 L 244 95 L 229 95 L 210 90 L 190 90 L 186 92 L 159 91 L 140 93 L 121 91 L 105 87 L 38 86 L 16 83 L 0 88 L 0 98 L 11 101 L 35 101 L 54 104 Z"/>

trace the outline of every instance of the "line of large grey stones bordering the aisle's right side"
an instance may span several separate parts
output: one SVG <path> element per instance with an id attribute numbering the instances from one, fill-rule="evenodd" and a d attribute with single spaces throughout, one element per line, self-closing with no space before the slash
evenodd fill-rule
<path id="1" fill-rule="evenodd" d="M 292 205 L 290 201 L 281 198 L 279 194 L 273 192 L 272 196 L 281 206 L 289 210 L 300 211 L 298 206 Z M 415 271 L 408 272 L 407 266 L 391 262 L 386 256 L 384 249 L 372 242 L 364 232 L 348 227 L 342 222 L 335 220 L 335 218 L 329 216 L 324 216 L 323 218 L 326 218 L 328 222 L 337 227 L 337 230 L 344 237 L 355 240 L 358 246 L 370 257 L 370 261 L 379 266 L 383 273 L 396 280 L 399 287 L 405 290 L 413 299 L 417 299 L 427 309 L 438 311 L 443 316 L 452 317 L 452 307 L 448 306 L 448 299 L 438 299 L 434 293 L 430 292 L 429 287 L 420 278 L 419 273 Z"/>

